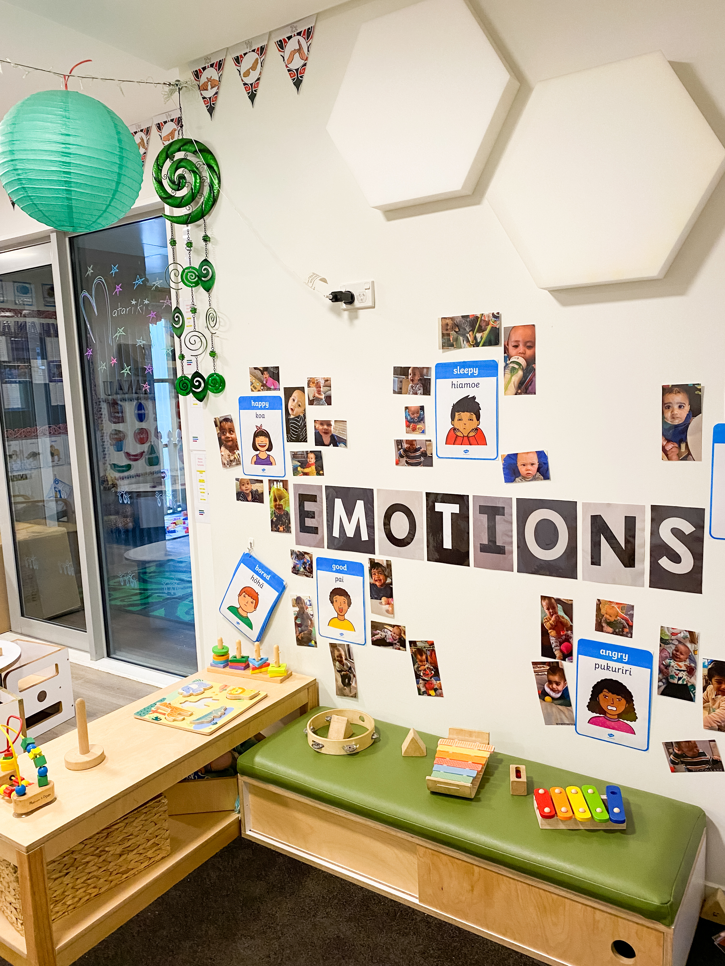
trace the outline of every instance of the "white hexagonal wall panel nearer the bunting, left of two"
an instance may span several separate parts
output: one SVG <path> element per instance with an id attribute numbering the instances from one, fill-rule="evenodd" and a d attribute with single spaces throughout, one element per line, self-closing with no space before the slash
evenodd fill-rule
<path id="1" fill-rule="evenodd" d="M 362 24 L 328 131 L 373 208 L 471 194 L 518 81 L 464 0 Z"/>

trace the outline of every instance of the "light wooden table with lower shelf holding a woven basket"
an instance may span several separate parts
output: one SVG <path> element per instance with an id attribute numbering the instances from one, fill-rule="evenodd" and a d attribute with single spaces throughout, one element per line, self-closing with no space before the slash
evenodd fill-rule
<path id="1" fill-rule="evenodd" d="M 133 718 L 134 711 L 199 677 L 219 684 L 229 681 L 211 671 L 193 674 L 91 722 L 91 740 L 102 745 L 105 760 L 87 771 L 69 771 L 63 763 L 65 753 L 77 748 L 74 730 L 43 742 L 56 801 L 22 817 L 15 817 L 12 806 L 0 802 L 0 858 L 17 867 L 25 929 L 23 937 L 0 914 L 0 955 L 13 966 L 69 966 L 238 838 L 240 816 L 236 811 L 169 816 L 170 855 L 55 923 L 50 920 L 47 862 L 263 728 L 295 712 L 304 715 L 318 704 L 315 678 L 293 674 L 211 735 Z M 34 769 L 27 756 L 21 755 L 19 763 L 22 774 L 32 781 Z"/>

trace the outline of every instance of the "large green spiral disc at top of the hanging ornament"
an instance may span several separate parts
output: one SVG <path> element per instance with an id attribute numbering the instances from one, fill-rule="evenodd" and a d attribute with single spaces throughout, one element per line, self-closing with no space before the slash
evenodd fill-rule
<path id="1" fill-rule="evenodd" d="M 192 160 L 193 157 L 199 158 L 201 162 L 203 179 L 199 167 Z M 166 161 L 170 161 L 170 164 L 164 175 L 163 166 Z M 163 204 L 169 208 L 187 209 L 185 214 L 164 214 L 164 218 L 177 225 L 190 225 L 205 218 L 217 204 L 220 183 L 217 158 L 205 144 L 190 137 L 179 137 L 171 141 L 161 148 L 154 161 L 154 187 Z M 172 191 L 184 191 L 184 194 L 172 194 Z M 198 202 L 196 207 L 195 202 Z"/>

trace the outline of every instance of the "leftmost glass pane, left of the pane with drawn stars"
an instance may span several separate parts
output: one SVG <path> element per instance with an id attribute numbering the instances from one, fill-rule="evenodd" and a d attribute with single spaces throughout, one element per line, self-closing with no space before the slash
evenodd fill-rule
<path id="1" fill-rule="evenodd" d="M 85 631 L 49 265 L 0 275 L 0 385 L 20 612 Z"/>

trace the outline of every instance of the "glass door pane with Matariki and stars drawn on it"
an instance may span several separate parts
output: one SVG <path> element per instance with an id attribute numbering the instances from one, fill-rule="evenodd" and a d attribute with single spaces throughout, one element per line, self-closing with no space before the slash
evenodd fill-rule
<path id="1" fill-rule="evenodd" d="M 109 656 L 196 670 L 164 219 L 71 240 Z"/>

